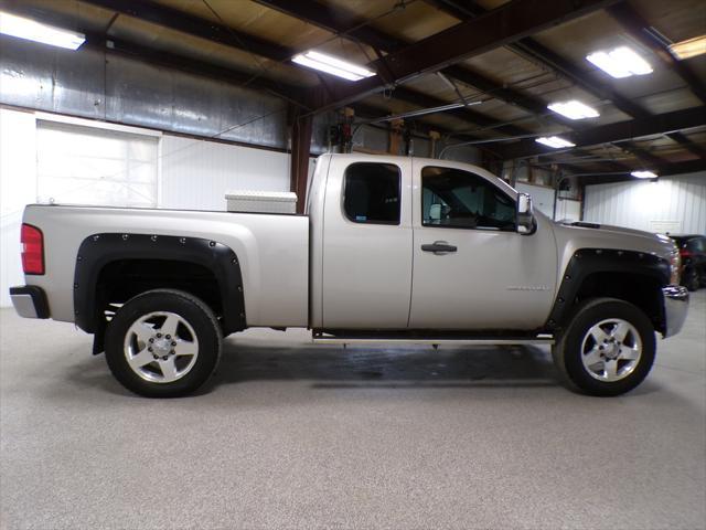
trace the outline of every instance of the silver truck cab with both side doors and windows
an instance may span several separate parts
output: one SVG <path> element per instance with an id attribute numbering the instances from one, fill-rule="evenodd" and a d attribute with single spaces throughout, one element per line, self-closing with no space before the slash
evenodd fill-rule
<path id="1" fill-rule="evenodd" d="M 557 284 L 550 221 L 517 192 L 436 159 L 323 156 L 310 188 L 311 327 L 539 328 Z M 450 280 L 453 278 L 453 280 Z"/>

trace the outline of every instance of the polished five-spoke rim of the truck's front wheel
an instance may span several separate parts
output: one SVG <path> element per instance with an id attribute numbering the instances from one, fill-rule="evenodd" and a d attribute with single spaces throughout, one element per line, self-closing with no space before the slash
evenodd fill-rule
<path id="1" fill-rule="evenodd" d="M 591 327 L 584 336 L 581 361 L 591 378 L 603 382 L 625 379 L 640 363 L 642 340 L 627 320 L 609 318 Z"/>

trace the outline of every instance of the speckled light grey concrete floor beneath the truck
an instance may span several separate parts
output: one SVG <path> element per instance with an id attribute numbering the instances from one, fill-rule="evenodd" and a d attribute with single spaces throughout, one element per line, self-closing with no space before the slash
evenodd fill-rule
<path id="1" fill-rule="evenodd" d="M 616 399 L 539 348 L 256 331 L 201 395 L 151 401 L 72 326 L 0 320 L 2 528 L 706 528 L 706 290 Z"/>

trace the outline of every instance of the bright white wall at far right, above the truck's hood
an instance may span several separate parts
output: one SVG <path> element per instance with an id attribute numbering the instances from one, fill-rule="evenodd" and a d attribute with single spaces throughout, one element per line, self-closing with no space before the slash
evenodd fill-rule
<path id="1" fill-rule="evenodd" d="M 586 221 L 650 232 L 706 233 L 706 171 L 656 182 L 586 187 Z"/>

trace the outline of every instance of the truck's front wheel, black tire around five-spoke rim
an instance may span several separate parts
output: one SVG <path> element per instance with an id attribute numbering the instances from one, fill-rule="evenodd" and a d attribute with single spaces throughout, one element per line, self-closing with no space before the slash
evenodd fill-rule
<path id="1" fill-rule="evenodd" d="M 590 351 L 587 351 L 588 347 L 591 344 L 596 348 L 600 347 L 592 335 L 589 337 L 590 330 L 595 329 L 595 326 L 600 322 L 610 321 L 611 319 L 624 321 L 632 326 L 634 331 L 629 331 L 627 341 L 634 346 L 637 343 L 635 336 L 638 336 L 641 342 L 641 353 L 639 359 L 634 360 L 634 363 L 631 364 L 631 361 L 623 359 L 614 360 L 614 365 L 618 367 L 618 377 L 622 378 L 616 381 L 598 379 L 608 373 L 608 363 L 602 360 L 599 360 L 598 364 L 590 364 L 590 368 L 585 367 L 584 363 L 585 357 L 590 353 Z M 606 324 L 605 329 L 610 330 L 611 324 Z M 622 351 L 620 349 L 621 343 L 618 341 L 618 348 L 613 349 L 616 348 L 614 343 L 605 346 L 607 353 L 603 353 L 603 350 L 596 351 L 596 353 L 613 356 L 617 354 L 618 350 Z M 574 311 L 570 324 L 552 349 L 552 356 L 559 373 L 563 375 L 564 382 L 569 389 L 590 395 L 620 395 L 638 386 L 650 373 L 655 356 L 654 327 L 646 315 L 632 304 L 616 298 L 593 298 L 584 301 Z M 602 374 L 599 373 L 600 370 L 596 369 L 596 367 L 601 367 L 600 362 L 603 362 Z M 610 362 L 613 361 L 611 360 Z M 620 374 L 623 370 L 623 374 Z M 593 374 L 591 375 L 591 373 Z"/>

